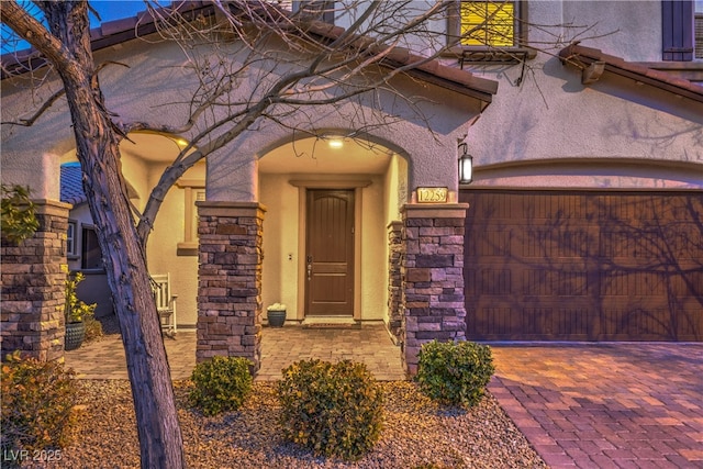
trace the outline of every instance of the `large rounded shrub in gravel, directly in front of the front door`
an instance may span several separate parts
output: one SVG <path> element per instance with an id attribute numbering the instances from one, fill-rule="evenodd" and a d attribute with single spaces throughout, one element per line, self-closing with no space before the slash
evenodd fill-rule
<path id="1" fill-rule="evenodd" d="M 380 437 L 382 390 L 364 364 L 301 360 L 278 390 L 283 436 L 315 455 L 356 460 Z"/>

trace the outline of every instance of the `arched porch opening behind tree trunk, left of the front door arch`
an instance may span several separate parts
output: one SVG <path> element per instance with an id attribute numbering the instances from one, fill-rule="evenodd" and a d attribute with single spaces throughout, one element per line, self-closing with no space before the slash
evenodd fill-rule
<path id="1" fill-rule="evenodd" d="M 133 206 L 143 211 L 164 169 L 174 163 L 187 142 L 176 135 L 131 133 L 120 144 L 122 174 Z M 102 266 L 102 253 L 97 244 L 96 227 L 82 191 L 82 175 L 76 150 L 60 156 L 60 200 L 72 206 L 68 214 L 67 266 L 82 271 L 86 280 L 79 286 L 81 300 L 97 303 L 96 316 L 112 312 L 111 292 Z M 198 234 L 194 202 L 204 198 L 205 165 L 199 163 L 167 192 L 156 215 L 147 243 L 149 273 L 168 273 L 171 289 L 178 297 L 177 325 L 193 330 L 198 320 Z M 107 317 L 105 323 L 110 323 Z"/>

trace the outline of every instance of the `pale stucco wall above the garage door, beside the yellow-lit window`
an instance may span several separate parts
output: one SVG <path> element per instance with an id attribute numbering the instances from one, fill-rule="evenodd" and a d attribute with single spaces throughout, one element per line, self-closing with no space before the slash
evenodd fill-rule
<path id="1" fill-rule="evenodd" d="M 625 60 L 661 59 L 660 2 L 528 4 L 531 23 L 592 25 L 579 37 L 589 47 Z M 563 29 L 563 37 L 572 32 Z M 528 36 L 549 40 L 535 27 Z M 691 180 L 703 170 L 701 103 L 609 74 L 583 86 L 578 70 L 545 53 L 527 60 L 524 72 L 521 64 L 472 71 L 500 81 L 500 92 L 468 135 L 475 185 L 703 187 L 700 178 Z M 629 177 L 635 163 L 639 168 Z M 525 178 L 529 165 L 534 169 Z"/>

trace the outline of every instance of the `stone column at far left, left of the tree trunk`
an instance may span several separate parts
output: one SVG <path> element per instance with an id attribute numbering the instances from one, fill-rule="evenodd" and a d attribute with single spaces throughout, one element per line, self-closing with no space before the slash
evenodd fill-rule
<path id="1" fill-rule="evenodd" d="M 34 201 L 40 227 L 12 244 L 2 238 L 2 358 L 14 350 L 42 361 L 64 358 L 66 231 L 70 204 Z"/>

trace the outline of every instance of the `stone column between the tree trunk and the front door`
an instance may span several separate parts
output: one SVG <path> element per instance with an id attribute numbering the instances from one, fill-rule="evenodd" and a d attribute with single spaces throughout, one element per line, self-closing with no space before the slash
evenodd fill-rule
<path id="1" fill-rule="evenodd" d="M 198 202 L 198 362 L 215 355 L 261 364 L 261 241 L 256 202 Z"/>

